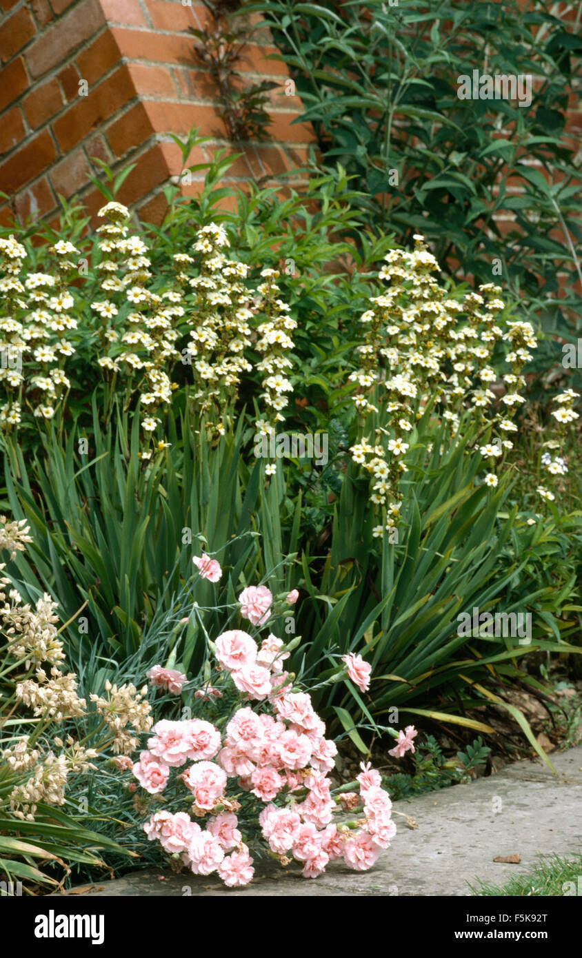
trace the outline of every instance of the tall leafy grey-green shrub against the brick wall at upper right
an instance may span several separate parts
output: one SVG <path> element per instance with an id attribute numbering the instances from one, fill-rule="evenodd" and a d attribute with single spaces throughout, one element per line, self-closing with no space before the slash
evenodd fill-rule
<path id="1" fill-rule="evenodd" d="M 582 270 L 577 145 L 566 130 L 580 70 L 580 11 L 520 0 L 253 3 L 313 122 L 323 158 L 352 177 L 378 232 L 422 233 L 450 273 L 499 276 L 544 328 L 572 338 Z M 459 99 L 463 76 L 543 76 L 531 103 Z M 511 219 L 507 233 L 501 220 Z M 559 291 L 558 272 L 570 277 Z M 559 358 L 546 356 L 546 366 Z"/>

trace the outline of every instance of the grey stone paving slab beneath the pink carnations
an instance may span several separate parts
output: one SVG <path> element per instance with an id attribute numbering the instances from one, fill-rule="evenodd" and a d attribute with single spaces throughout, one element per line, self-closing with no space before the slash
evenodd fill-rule
<path id="1" fill-rule="evenodd" d="M 252 883 L 227 889 L 209 876 L 173 875 L 155 869 L 100 881 L 91 897 L 127 896 L 441 896 L 470 895 L 477 878 L 503 884 L 530 872 L 539 855 L 582 851 L 582 745 L 552 755 L 558 774 L 536 759 L 505 766 L 497 775 L 419 798 L 395 802 L 418 828 L 395 816 L 392 845 L 369 872 L 339 862 L 320 878 L 301 878 L 298 865 L 260 866 Z M 494 862 L 520 855 L 520 864 Z M 77 889 L 72 890 L 78 892 Z"/>

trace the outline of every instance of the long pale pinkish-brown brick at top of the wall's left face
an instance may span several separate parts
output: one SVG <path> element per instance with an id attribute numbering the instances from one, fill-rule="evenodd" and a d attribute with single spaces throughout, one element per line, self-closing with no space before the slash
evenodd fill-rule
<path id="1" fill-rule="evenodd" d="M 73 53 L 83 42 L 104 25 L 99 0 L 82 0 L 70 13 L 45 30 L 26 54 L 26 62 L 33 78 L 41 77 Z"/>

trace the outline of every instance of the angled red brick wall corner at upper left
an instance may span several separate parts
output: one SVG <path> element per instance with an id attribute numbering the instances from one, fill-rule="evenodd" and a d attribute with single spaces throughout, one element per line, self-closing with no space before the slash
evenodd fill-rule
<path id="1" fill-rule="evenodd" d="M 0 206 L 0 221 L 13 214 L 22 222 L 50 218 L 58 194 L 80 195 L 94 213 L 103 199 L 89 180 L 99 171 L 92 157 L 115 171 L 135 163 L 118 198 L 159 221 L 161 191 L 182 173 L 169 134 L 192 126 L 213 140 L 193 151 L 187 165 L 221 146 L 244 150 L 225 182 L 270 182 L 298 170 L 313 132 L 291 125 L 300 103 L 286 96 L 287 70 L 268 59 L 275 49 L 264 31 L 253 37 L 240 69 L 249 79 L 280 83 L 270 97 L 270 141 L 232 145 L 225 139 L 217 89 L 187 33 L 208 17 L 194 0 L 192 6 L 181 0 L 0 0 L 0 190 L 11 197 Z M 202 173 L 193 174 L 184 193 L 197 191 L 197 176 Z"/>

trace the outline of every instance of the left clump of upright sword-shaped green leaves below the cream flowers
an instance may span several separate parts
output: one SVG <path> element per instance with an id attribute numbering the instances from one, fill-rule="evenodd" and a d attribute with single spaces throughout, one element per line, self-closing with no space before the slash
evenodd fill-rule
<path id="1" fill-rule="evenodd" d="M 187 415 L 170 420 L 179 442 L 173 453 L 140 463 L 138 420 L 128 428 L 120 416 L 115 430 L 104 429 L 94 406 L 90 454 L 78 452 L 72 430 L 66 446 L 49 436 L 42 454 L 28 465 L 18 450 L 7 462 L 6 481 L 12 513 L 33 530 L 31 559 L 18 554 L 13 566 L 31 596 L 43 590 L 58 596 L 64 620 L 78 621 L 69 639 L 78 649 L 89 645 L 116 652 L 123 660 L 140 643 L 156 610 L 168 610 L 185 584 L 192 582 L 192 558 L 205 543 L 221 543 L 226 573 L 221 590 L 230 601 L 243 570 L 252 576 L 257 562 L 251 510 L 257 496 L 257 470 L 242 484 L 238 463 L 242 422 L 216 448 L 200 441 Z M 214 594 L 198 581 L 200 605 Z"/>

